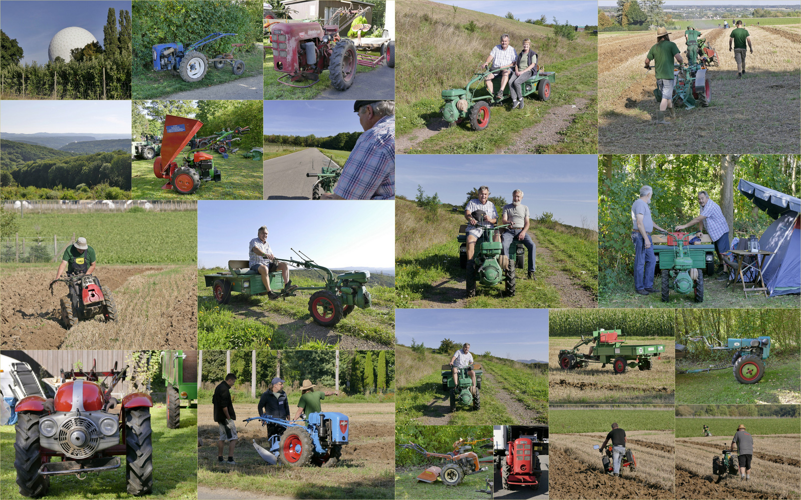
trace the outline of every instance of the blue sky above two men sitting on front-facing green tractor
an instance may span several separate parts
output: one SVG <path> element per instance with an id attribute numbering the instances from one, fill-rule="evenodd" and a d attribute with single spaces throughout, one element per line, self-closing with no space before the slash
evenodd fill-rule
<path id="1" fill-rule="evenodd" d="M 523 191 L 532 218 L 543 212 L 570 226 L 598 227 L 598 157 L 592 154 L 399 154 L 395 158 L 396 193 L 414 199 L 417 185 L 442 202 L 461 205 L 467 193 L 489 186 L 492 196 L 512 201 Z"/>

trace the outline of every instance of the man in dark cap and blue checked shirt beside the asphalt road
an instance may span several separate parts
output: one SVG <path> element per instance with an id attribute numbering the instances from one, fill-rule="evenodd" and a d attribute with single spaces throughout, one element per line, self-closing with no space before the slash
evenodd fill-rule
<path id="1" fill-rule="evenodd" d="M 324 200 L 395 199 L 395 101 L 356 101 L 364 134 L 342 167 L 334 192 Z"/>

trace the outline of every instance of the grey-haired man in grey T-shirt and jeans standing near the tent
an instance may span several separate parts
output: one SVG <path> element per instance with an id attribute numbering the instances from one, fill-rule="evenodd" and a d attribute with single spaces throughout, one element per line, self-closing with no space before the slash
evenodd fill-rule
<path id="1" fill-rule="evenodd" d="M 656 257 L 651 246 L 650 234 L 654 227 L 664 231 L 654 224 L 650 216 L 651 198 L 654 190 L 651 186 L 640 188 L 640 197 L 631 205 L 631 242 L 634 243 L 634 291 L 640 295 L 654 292 L 654 269 Z"/>

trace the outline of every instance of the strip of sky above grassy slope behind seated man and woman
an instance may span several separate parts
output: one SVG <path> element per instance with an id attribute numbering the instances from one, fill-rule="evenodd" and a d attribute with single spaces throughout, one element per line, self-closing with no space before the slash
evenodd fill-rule
<path id="1" fill-rule="evenodd" d="M 526 19 L 539 19 L 542 14 L 548 18 L 548 22 L 553 22 L 556 16 L 557 21 L 562 24 L 566 20 L 572 25 L 598 24 L 598 2 L 587 2 L 586 0 L 443 0 L 445 5 L 455 5 L 469 10 L 477 10 L 486 14 L 495 14 L 501 18 L 506 17 L 507 12 L 511 12 L 521 21 Z"/>

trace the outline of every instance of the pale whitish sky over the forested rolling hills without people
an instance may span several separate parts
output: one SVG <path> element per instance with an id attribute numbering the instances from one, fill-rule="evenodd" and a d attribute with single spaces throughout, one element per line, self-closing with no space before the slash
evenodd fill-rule
<path id="1" fill-rule="evenodd" d="M 131 134 L 131 101 L 2 101 L 0 114 L 11 134 Z"/>

